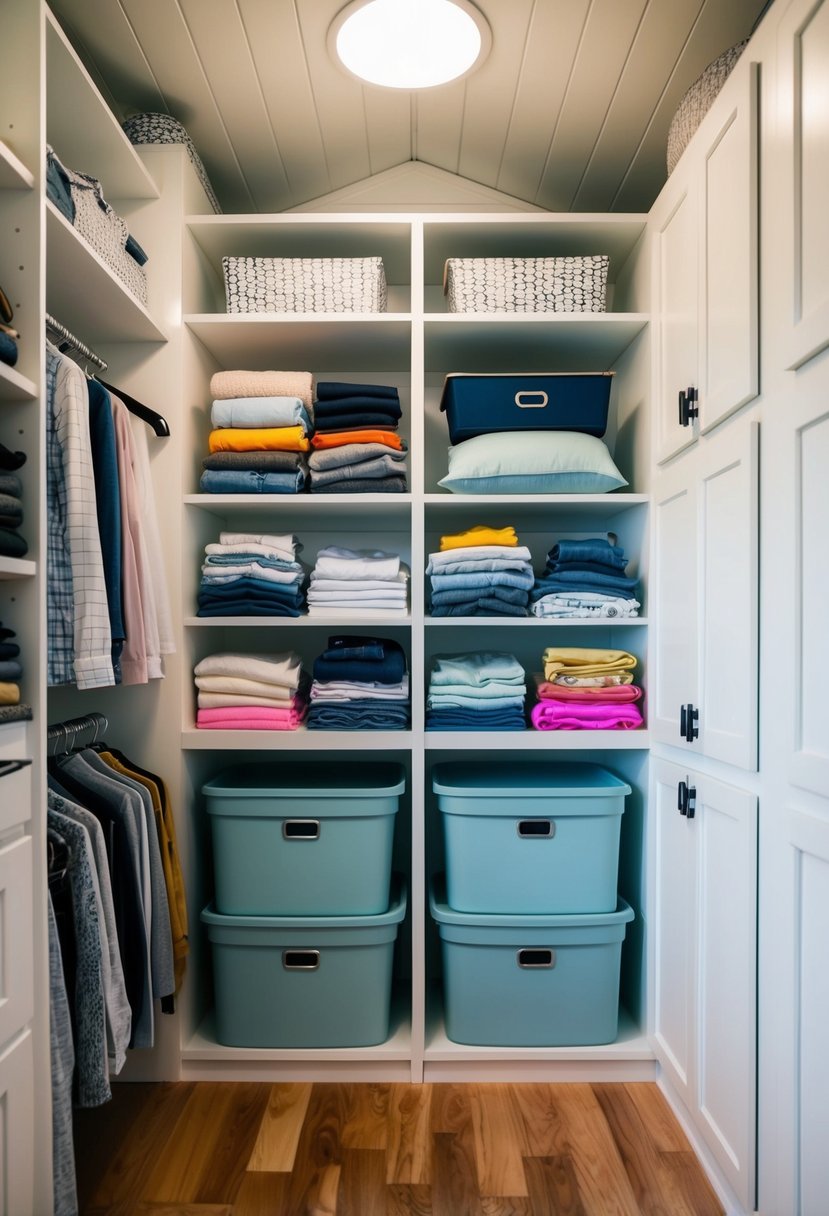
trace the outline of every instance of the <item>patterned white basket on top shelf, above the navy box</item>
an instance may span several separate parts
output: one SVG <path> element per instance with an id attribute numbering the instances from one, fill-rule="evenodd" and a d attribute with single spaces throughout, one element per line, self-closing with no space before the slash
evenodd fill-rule
<path id="1" fill-rule="evenodd" d="M 581 258 L 447 258 L 450 313 L 604 313 L 607 254 Z"/>

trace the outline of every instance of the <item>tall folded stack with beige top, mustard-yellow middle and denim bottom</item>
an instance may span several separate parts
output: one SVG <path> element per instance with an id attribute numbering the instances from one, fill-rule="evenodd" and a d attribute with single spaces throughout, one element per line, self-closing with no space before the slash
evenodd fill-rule
<path id="1" fill-rule="evenodd" d="M 314 429 L 310 372 L 216 372 L 205 494 L 299 494 Z"/>

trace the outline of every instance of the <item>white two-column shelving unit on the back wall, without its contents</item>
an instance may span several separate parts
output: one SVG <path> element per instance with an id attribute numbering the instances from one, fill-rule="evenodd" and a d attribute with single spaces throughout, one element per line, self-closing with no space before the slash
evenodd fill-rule
<path id="1" fill-rule="evenodd" d="M 450 371 L 616 370 L 608 441 L 628 413 L 648 400 L 648 299 L 637 271 L 643 216 L 468 216 L 419 215 L 284 215 L 187 216 L 182 323 L 190 338 L 191 373 L 184 398 L 191 409 L 182 466 L 182 787 L 192 790 L 188 815 L 197 855 L 209 851 L 205 816 L 198 789 L 208 776 L 242 759 L 267 755 L 278 762 L 288 754 L 314 751 L 342 761 L 402 759 L 410 772 L 411 815 L 396 828 L 395 868 L 406 872 L 410 917 L 404 925 L 404 957 L 411 976 L 401 978 L 396 1009 L 404 1002 L 405 1029 L 388 1043 L 349 1052 L 241 1051 L 216 1042 L 209 996 L 193 1001 L 182 1024 L 184 1076 L 198 1077 L 334 1077 L 370 1079 L 404 1075 L 414 1080 L 441 1076 L 526 1077 L 593 1076 L 643 1079 L 654 1075 L 645 1038 L 642 991 L 635 1008 L 622 1013 L 616 1043 L 603 1048 L 514 1049 L 468 1048 L 451 1043 L 442 1030 L 439 987 L 432 986 L 430 924 L 425 890 L 435 857 L 439 822 L 430 792 L 430 765 L 450 755 L 514 756 L 515 762 L 554 754 L 610 764 L 628 773 L 643 796 L 649 732 L 434 732 L 424 730 L 430 657 L 447 651 L 497 648 L 514 652 L 525 670 L 540 666 L 545 646 L 617 646 L 648 664 L 648 516 L 645 461 L 637 457 L 630 492 L 609 495 L 452 495 L 438 480 L 446 472 L 446 423 L 439 412 L 440 387 Z M 442 302 L 442 264 L 450 254 L 531 254 L 540 252 L 610 254 L 611 311 L 582 315 L 450 315 Z M 334 257 L 382 254 L 389 282 L 389 311 L 382 315 L 229 315 L 225 309 L 221 259 L 225 255 Z M 633 354 L 633 353 L 638 353 Z M 209 378 L 222 368 L 294 367 L 317 379 L 396 384 L 404 404 L 401 434 L 410 445 L 410 492 L 406 495 L 205 495 L 194 492 L 209 432 Z M 643 371 L 644 368 L 644 371 Z M 643 615 L 619 623 L 556 621 L 535 618 L 435 618 L 428 615 L 428 552 L 439 536 L 475 523 L 512 523 L 529 544 L 536 568 L 562 535 L 614 533 L 624 544 L 644 587 Z M 327 544 L 378 547 L 400 552 L 411 568 L 411 612 L 389 620 L 366 613 L 359 620 L 332 612 L 327 618 L 199 618 L 194 615 L 198 570 L 204 544 L 224 528 L 293 533 L 304 545 L 309 567 Z M 525 540 L 526 537 L 526 540 Z M 410 659 L 412 725 L 408 731 L 291 732 L 201 731 L 193 726 L 193 689 L 188 672 L 213 651 L 258 653 L 295 651 L 310 666 L 329 632 L 394 636 Z M 638 811 L 632 815 L 631 832 Z M 401 865 L 402 861 L 402 865 Z M 632 877 L 642 886 L 643 858 Z M 196 878 L 198 900 L 209 899 L 203 877 Z M 628 883 L 628 886 L 631 884 Z M 633 896 L 631 899 L 631 896 Z M 632 890 L 626 897 L 642 913 Z M 411 928 L 408 928 L 411 925 Z M 632 972 L 644 968 L 642 935 L 632 935 Z M 202 957 L 207 945 L 202 942 Z M 194 964 L 199 983 L 203 962 Z M 407 986 L 411 980 L 411 992 Z M 633 985 L 636 989 L 636 985 Z M 397 1024 L 397 1023 L 395 1023 Z"/>

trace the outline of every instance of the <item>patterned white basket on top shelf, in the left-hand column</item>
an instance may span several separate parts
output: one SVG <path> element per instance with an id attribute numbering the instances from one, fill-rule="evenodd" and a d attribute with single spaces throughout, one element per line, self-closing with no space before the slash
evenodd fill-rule
<path id="1" fill-rule="evenodd" d="M 229 313 L 385 313 L 382 258 L 222 258 Z"/>

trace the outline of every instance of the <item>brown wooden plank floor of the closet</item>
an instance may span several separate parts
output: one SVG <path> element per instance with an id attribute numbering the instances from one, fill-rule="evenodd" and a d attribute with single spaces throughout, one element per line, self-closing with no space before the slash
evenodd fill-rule
<path id="1" fill-rule="evenodd" d="M 81 1216 L 722 1216 L 654 1085 L 120 1085 Z"/>

